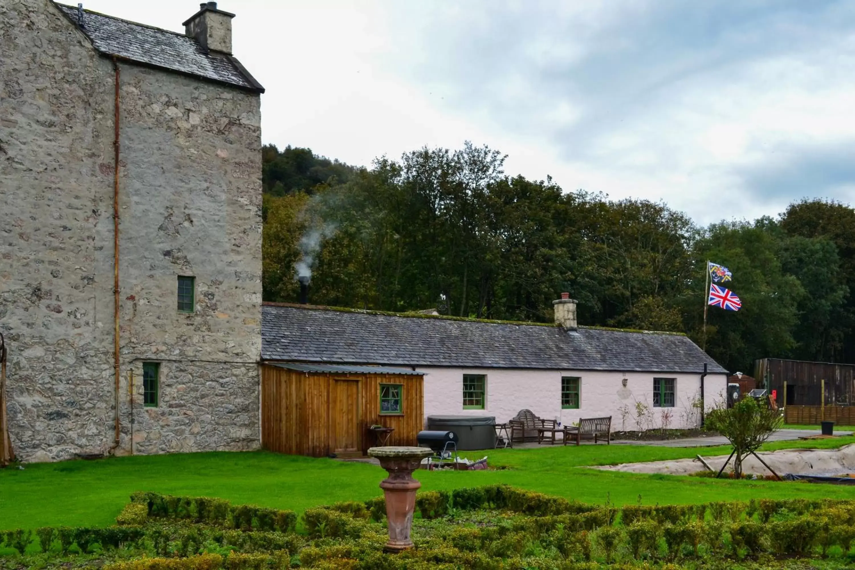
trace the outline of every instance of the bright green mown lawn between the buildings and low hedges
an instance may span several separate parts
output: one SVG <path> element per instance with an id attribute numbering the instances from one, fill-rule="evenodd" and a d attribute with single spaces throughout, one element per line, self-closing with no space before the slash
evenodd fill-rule
<path id="1" fill-rule="evenodd" d="M 855 437 L 813 442 L 775 442 L 767 449 L 832 448 Z M 838 497 L 855 499 L 855 489 L 836 485 L 727 481 L 670 475 L 576 469 L 631 461 L 657 461 L 729 453 L 728 447 L 664 448 L 629 445 L 543 447 L 534 450 L 467 452 L 486 454 L 504 470 L 417 473 L 423 488 L 450 489 L 507 483 L 578 499 L 634 503 L 746 500 L 752 497 Z M 380 495 L 385 472 L 345 463 L 263 451 L 121 457 L 28 465 L 0 471 L 0 529 L 38 526 L 108 526 L 133 491 L 213 496 L 233 502 L 303 510 L 313 505 L 364 500 Z"/>

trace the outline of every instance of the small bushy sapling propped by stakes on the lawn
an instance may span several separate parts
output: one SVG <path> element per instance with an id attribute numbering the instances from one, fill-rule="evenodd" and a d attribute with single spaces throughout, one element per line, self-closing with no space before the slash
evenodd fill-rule
<path id="1" fill-rule="evenodd" d="M 734 474 L 742 476 L 742 461 L 757 451 L 769 436 L 781 428 L 783 417 L 778 410 L 759 405 L 747 397 L 727 408 L 724 404 L 707 415 L 706 424 L 734 446 Z"/>

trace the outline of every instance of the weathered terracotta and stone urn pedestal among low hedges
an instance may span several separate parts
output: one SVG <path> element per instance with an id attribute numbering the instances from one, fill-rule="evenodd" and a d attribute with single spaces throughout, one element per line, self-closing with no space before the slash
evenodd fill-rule
<path id="1" fill-rule="evenodd" d="M 389 472 L 380 481 L 386 495 L 386 517 L 389 520 L 389 542 L 386 552 L 400 552 L 413 548 L 410 529 L 416 512 L 416 490 L 422 486 L 413 479 L 413 472 L 422 465 L 422 459 L 433 455 L 424 447 L 372 447 L 369 455 L 380 460 L 380 467 Z"/>

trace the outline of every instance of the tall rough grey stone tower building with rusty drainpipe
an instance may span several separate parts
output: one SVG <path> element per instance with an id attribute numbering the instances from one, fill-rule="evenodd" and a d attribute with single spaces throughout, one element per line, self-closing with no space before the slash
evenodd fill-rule
<path id="1" fill-rule="evenodd" d="M 263 89 L 232 18 L 203 3 L 178 33 L 0 1 L 0 332 L 23 461 L 259 444 Z"/>

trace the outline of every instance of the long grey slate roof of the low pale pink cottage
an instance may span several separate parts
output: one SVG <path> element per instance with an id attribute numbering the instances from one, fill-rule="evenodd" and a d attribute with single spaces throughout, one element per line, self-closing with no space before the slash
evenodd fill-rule
<path id="1" fill-rule="evenodd" d="M 262 307 L 262 359 L 405 366 L 727 373 L 663 332 L 451 320 L 314 306 Z"/>

